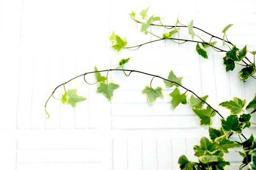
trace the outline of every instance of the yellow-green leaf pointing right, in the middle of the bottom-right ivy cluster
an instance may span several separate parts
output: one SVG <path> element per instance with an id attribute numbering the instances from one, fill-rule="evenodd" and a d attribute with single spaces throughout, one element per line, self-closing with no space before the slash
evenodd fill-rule
<path id="1" fill-rule="evenodd" d="M 218 137 L 215 139 L 215 142 L 219 142 L 220 149 L 224 151 L 224 153 L 229 153 L 229 149 L 233 147 L 240 147 L 240 144 L 227 139 L 226 135 Z"/>

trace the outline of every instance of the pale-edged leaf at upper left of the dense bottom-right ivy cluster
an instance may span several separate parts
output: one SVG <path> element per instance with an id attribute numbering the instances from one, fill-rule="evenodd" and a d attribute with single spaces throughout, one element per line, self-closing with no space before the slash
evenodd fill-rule
<path id="1" fill-rule="evenodd" d="M 202 137 L 200 140 L 200 144 L 194 146 L 195 156 L 197 157 L 204 156 L 207 151 L 213 153 L 215 150 L 218 149 L 218 142 L 209 141 L 209 139 L 207 139 L 206 137 Z"/>

